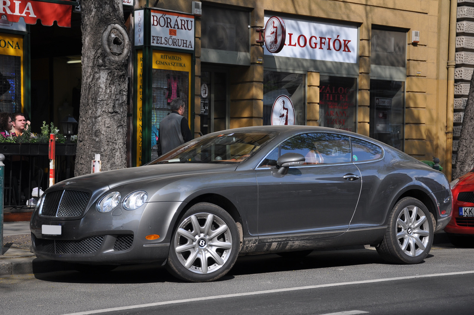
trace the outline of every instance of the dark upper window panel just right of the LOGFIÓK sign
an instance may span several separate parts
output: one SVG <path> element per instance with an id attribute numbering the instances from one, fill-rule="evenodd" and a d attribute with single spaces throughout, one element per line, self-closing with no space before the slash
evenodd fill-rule
<path id="1" fill-rule="evenodd" d="M 406 32 L 372 29 L 371 64 L 405 67 L 406 45 Z"/>

